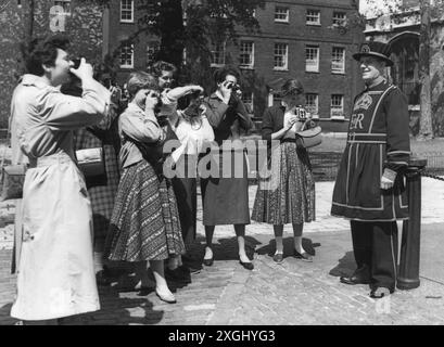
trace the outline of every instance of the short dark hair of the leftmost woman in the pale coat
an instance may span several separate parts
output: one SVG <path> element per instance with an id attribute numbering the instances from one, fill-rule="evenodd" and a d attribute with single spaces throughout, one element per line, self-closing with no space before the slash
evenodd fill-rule
<path id="1" fill-rule="evenodd" d="M 27 46 L 22 43 L 25 67 L 28 74 L 43 76 L 42 65 L 54 66 L 58 57 L 58 49 L 66 51 L 69 39 L 63 35 L 54 35 L 49 38 L 35 38 Z"/>

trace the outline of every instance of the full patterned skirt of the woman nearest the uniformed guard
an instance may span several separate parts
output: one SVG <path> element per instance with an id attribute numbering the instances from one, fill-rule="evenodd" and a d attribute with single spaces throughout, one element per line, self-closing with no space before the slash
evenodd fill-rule
<path id="1" fill-rule="evenodd" d="M 267 168 L 264 168 L 264 170 Z M 315 180 L 308 153 L 284 142 L 271 153 L 269 175 L 263 171 L 252 219 L 274 226 L 315 220 Z"/>

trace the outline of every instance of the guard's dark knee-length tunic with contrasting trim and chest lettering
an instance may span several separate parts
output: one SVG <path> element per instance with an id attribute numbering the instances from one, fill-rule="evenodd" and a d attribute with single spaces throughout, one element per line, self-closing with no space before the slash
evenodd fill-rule
<path id="1" fill-rule="evenodd" d="M 333 190 L 331 215 L 360 221 L 408 219 L 403 175 L 410 155 L 407 99 L 386 81 L 358 94 Z M 381 177 L 397 174 L 393 189 Z"/>

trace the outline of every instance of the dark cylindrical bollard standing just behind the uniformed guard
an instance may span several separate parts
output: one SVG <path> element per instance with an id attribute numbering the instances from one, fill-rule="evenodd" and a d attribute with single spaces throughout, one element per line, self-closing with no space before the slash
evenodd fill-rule
<path id="1" fill-rule="evenodd" d="M 419 249 L 421 236 L 421 170 L 427 159 L 411 158 L 406 171 L 409 220 L 403 223 L 398 290 L 407 291 L 419 286 Z"/>

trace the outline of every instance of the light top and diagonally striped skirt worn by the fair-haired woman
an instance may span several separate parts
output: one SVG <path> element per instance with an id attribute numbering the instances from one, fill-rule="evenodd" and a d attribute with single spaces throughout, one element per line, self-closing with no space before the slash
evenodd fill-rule
<path id="1" fill-rule="evenodd" d="M 136 262 L 183 254 L 173 184 L 147 159 L 150 145 L 161 146 L 162 152 L 167 140 L 165 129 L 154 115 L 147 115 L 134 103 L 120 115 L 118 128 L 122 177 L 106 235 L 105 258 Z"/>

